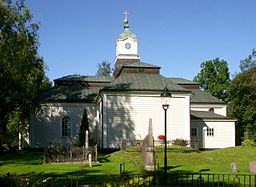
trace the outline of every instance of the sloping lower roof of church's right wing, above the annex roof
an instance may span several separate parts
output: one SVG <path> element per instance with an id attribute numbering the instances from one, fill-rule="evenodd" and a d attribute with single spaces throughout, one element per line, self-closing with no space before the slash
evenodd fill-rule
<path id="1" fill-rule="evenodd" d="M 190 90 L 193 95 L 191 96 L 191 103 L 210 103 L 210 104 L 226 104 L 221 99 L 212 96 L 211 94 L 204 92 L 200 89 L 187 89 Z"/>

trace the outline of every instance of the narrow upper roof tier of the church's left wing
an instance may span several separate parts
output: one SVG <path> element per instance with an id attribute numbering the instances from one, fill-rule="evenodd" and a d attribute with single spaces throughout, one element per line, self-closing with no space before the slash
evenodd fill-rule
<path id="1" fill-rule="evenodd" d="M 84 76 L 84 75 L 68 75 L 55 79 L 54 81 L 69 81 L 69 82 L 111 82 L 114 77 L 109 76 Z"/>

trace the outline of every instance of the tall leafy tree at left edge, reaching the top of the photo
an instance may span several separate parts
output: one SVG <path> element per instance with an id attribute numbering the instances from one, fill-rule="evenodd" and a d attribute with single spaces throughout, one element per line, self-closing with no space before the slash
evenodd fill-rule
<path id="1" fill-rule="evenodd" d="M 39 25 L 24 0 L 0 2 L 0 151 L 17 146 L 40 91 L 50 87 L 38 55 Z"/>

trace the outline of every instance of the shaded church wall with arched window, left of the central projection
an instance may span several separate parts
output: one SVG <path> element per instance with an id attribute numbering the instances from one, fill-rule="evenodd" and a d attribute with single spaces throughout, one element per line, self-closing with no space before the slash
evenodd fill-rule
<path id="1" fill-rule="evenodd" d="M 36 115 L 31 115 L 31 147 L 70 146 L 78 143 L 78 132 L 84 108 L 90 125 L 91 137 L 97 135 L 97 109 L 89 103 L 48 103 L 37 109 Z M 71 136 L 62 136 L 62 119 L 68 116 L 71 121 Z"/>

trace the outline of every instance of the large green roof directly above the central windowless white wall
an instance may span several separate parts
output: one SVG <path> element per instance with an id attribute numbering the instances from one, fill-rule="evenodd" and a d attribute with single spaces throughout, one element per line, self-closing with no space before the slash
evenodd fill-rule
<path id="1" fill-rule="evenodd" d="M 159 74 L 139 74 L 139 73 L 121 73 L 109 86 L 103 90 L 145 90 L 155 91 L 163 90 L 167 86 L 170 91 L 188 92 L 191 91 L 182 88 L 169 79 Z"/>

